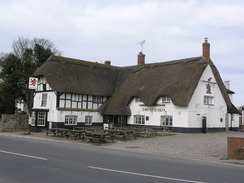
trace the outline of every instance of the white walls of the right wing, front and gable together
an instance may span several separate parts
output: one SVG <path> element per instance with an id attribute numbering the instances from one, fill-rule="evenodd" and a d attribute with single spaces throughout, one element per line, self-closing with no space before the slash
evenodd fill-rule
<path id="1" fill-rule="evenodd" d="M 208 79 L 211 80 L 208 82 Z M 210 84 L 211 93 L 207 93 L 206 85 Z M 213 105 L 204 104 L 204 96 L 213 97 Z M 164 105 L 164 106 L 163 106 Z M 131 116 L 128 124 L 135 124 L 135 115 L 145 115 L 145 125 L 160 126 L 161 116 L 173 116 L 173 127 L 202 128 L 202 116 L 207 117 L 207 128 L 225 128 L 225 115 L 227 106 L 222 93 L 217 85 L 210 66 L 204 70 L 201 79 L 187 107 L 179 107 L 170 103 L 162 103 L 160 97 L 155 106 L 144 106 L 143 102 L 137 103 L 135 98 L 130 102 Z M 239 115 L 233 115 L 232 127 L 238 127 Z"/>

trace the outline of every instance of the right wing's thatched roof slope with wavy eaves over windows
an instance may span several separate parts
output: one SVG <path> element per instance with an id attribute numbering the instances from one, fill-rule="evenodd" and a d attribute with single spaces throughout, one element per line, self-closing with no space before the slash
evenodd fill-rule
<path id="1" fill-rule="evenodd" d="M 187 106 L 207 64 L 201 57 L 156 64 L 143 64 L 120 71 L 116 92 L 104 105 L 104 114 L 130 114 L 129 101 L 141 97 L 153 106 L 160 96 L 175 105 Z"/>

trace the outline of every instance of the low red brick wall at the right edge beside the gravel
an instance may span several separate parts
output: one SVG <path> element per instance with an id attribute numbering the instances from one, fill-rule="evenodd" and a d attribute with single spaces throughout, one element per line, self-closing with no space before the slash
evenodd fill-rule
<path id="1" fill-rule="evenodd" d="M 228 158 L 244 159 L 244 138 L 228 137 Z"/>

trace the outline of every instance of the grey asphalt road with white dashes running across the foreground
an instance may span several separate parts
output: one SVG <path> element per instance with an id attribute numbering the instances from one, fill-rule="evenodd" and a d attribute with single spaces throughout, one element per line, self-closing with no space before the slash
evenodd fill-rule
<path id="1" fill-rule="evenodd" d="M 0 183 L 243 183 L 244 166 L 0 134 Z"/>

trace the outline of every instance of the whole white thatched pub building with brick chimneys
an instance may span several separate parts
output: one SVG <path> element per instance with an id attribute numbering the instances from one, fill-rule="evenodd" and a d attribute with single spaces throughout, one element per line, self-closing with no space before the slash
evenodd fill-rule
<path id="1" fill-rule="evenodd" d="M 175 132 L 237 130 L 232 92 L 203 56 L 115 67 L 51 56 L 38 78 L 30 116 L 33 130 L 76 126 L 167 126 Z"/>

